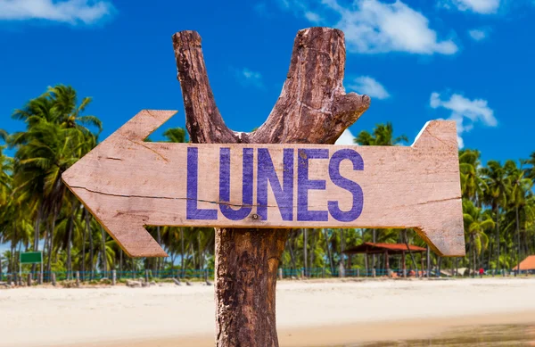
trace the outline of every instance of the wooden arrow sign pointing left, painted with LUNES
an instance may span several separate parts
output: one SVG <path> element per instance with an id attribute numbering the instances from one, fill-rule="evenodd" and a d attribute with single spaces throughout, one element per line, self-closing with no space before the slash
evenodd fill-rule
<path id="1" fill-rule="evenodd" d="M 410 147 L 144 142 L 175 113 L 139 112 L 62 175 L 130 256 L 167 256 L 145 226 L 414 227 L 465 255 L 454 121 Z"/>

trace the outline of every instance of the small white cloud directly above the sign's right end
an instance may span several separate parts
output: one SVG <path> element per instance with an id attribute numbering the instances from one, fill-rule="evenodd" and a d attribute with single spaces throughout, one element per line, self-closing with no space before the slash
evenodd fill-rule
<path id="1" fill-rule="evenodd" d="M 445 99 L 441 99 L 439 93 L 433 92 L 429 104 L 433 109 L 444 108 L 451 112 L 449 120 L 457 122 L 457 139 L 460 148 L 465 145 L 462 135 L 472 130 L 475 124 L 482 123 L 488 127 L 498 125 L 494 111 L 483 99 L 470 100 L 459 94 L 450 95 L 449 99 L 446 95 Z"/>

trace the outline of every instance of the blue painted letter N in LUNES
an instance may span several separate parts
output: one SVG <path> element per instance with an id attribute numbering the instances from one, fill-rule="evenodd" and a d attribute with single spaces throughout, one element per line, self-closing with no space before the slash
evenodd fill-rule
<path id="1" fill-rule="evenodd" d="M 268 181 L 275 195 L 276 204 L 283 220 L 293 219 L 293 149 L 284 149 L 283 186 L 276 177 L 276 170 L 267 148 L 259 148 L 257 174 L 257 214 L 261 220 L 268 219 Z"/>

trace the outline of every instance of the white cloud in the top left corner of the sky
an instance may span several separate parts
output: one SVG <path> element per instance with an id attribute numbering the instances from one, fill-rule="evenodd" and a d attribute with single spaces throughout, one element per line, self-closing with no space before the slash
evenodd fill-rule
<path id="1" fill-rule="evenodd" d="M 94 23 L 111 14 L 106 1 L 0 0 L 0 21 L 46 20 Z"/>

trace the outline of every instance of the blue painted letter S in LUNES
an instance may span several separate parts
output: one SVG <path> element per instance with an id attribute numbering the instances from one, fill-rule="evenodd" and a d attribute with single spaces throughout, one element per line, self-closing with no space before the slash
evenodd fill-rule
<path id="1" fill-rule="evenodd" d="M 328 206 L 333 219 L 341 222 L 350 222 L 358 219 L 358 216 L 360 216 L 364 203 L 364 196 L 362 194 L 362 188 L 358 186 L 356 182 L 353 182 L 348 178 L 343 178 L 340 174 L 340 162 L 344 159 L 350 160 L 353 163 L 353 169 L 358 170 L 364 169 L 364 161 L 362 161 L 360 154 L 352 149 L 342 149 L 335 152 L 331 157 L 331 161 L 329 161 L 329 177 L 333 181 L 333 184 L 340 186 L 353 194 L 353 207 L 351 207 L 350 211 L 342 211 L 336 201 L 328 202 Z"/>

